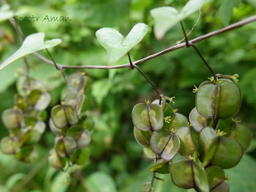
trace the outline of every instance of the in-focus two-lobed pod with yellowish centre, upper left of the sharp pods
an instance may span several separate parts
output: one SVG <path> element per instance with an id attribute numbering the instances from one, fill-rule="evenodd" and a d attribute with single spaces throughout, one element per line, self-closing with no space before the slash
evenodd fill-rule
<path id="1" fill-rule="evenodd" d="M 159 131 L 164 126 L 164 112 L 159 104 L 137 104 L 132 110 L 132 122 L 138 130 L 148 131 L 151 128 Z"/>

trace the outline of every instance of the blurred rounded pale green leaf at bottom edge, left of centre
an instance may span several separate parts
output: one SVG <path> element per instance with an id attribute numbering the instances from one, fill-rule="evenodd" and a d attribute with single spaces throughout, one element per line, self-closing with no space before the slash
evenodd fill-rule
<path id="1" fill-rule="evenodd" d="M 94 172 L 86 179 L 86 186 L 93 192 L 117 192 L 114 180 L 104 172 Z"/>

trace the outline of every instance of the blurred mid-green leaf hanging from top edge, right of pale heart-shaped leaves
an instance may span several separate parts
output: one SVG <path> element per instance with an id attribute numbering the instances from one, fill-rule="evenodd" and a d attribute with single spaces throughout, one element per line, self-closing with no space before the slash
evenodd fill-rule
<path id="1" fill-rule="evenodd" d="M 221 1 L 219 8 L 219 15 L 222 18 L 222 22 L 225 26 L 229 25 L 230 18 L 233 13 L 233 8 L 238 7 L 242 0 L 224 0 Z"/>

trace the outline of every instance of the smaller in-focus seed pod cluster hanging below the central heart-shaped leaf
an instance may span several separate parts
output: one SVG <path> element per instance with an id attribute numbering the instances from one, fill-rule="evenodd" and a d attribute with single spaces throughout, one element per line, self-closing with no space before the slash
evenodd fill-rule
<path id="1" fill-rule="evenodd" d="M 144 154 L 155 159 L 155 165 L 150 171 L 169 173 L 169 162 L 179 152 L 187 158 L 194 154 L 194 147 L 191 142 L 190 150 L 184 151 L 182 136 L 185 140 L 191 141 L 189 132 L 182 127 L 188 125 L 186 116 L 173 109 L 164 99 L 161 105 L 159 100 L 152 103 L 137 104 L 132 110 L 132 121 L 134 123 L 134 136 L 136 141 L 144 146 Z M 188 136 L 186 136 L 188 135 Z"/>

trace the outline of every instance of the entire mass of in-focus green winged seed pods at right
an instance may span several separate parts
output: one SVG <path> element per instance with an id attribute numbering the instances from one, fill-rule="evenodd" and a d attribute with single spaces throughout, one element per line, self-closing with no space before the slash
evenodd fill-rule
<path id="1" fill-rule="evenodd" d="M 149 170 L 170 173 L 180 188 L 228 192 L 224 169 L 239 163 L 252 140 L 250 129 L 232 119 L 241 105 L 238 85 L 218 78 L 200 84 L 190 123 L 168 103 L 158 102 L 137 104 L 132 111 L 134 136 L 144 154 L 155 159 Z M 186 159 L 170 164 L 178 152 Z"/>

